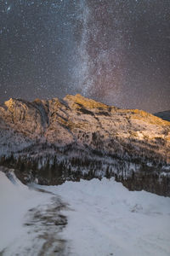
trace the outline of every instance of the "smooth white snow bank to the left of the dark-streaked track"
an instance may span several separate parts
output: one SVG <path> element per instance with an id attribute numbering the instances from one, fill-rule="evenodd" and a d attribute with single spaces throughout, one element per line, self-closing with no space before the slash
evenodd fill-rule
<path id="1" fill-rule="evenodd" d="M 0 252 L 20 240 L 26 212 L 45 199 L 47 195 L 28 189 L 12 172 L 9 177 L 0 172 Z"/>

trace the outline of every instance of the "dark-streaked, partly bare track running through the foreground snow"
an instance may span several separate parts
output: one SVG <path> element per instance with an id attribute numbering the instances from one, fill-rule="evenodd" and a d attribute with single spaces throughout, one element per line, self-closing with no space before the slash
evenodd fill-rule
<path id="1" fill-rule="evenodd" d="M 4 250 L 4 256 L 65 255 L 66 241 L 60 236 L 67 224 L 60 209 L 64 209 L 59 198 L 54 196 L 48 203 L 31 208 L 25 217 L 25 234 Z"/>

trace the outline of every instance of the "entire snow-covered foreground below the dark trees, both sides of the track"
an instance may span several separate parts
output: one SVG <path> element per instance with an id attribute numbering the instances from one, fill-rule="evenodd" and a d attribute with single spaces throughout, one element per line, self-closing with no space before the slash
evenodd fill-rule
<path id="1" fill-rule="evenodd" d="M 170 255 L 170 198 L 130 192 L 113 178 L 35 185 L 53 195 L 28 189 L 14 176 L 11 181 L 0 172 L 0 252 L 6 256 Z M 57 230 L 62 202 L 69 203 L 62 211 L 68 224 Z M 59 242 L 62 253 L 54 249 Z"/>

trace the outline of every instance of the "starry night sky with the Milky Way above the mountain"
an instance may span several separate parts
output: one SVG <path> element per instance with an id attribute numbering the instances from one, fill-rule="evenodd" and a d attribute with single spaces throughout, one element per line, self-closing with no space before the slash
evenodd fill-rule
<path id="1" fill-rule="evenodd" d="M 0 102 L 170 108 L 169 0 L 0 1 Z"/>

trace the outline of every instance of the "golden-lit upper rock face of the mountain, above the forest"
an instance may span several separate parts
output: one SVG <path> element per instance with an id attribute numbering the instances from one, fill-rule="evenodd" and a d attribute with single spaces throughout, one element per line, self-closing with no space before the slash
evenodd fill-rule
<path id="1" fill-rule="evenodd" d="M 6 125 L 31 139 L 59 145 L 86 143 L 106 152 L 121 150 L 121 144 L 119 148 L 116 145 L 119 140 L 134 140 L 136 146 L 144 143 L 169 160 L 170 123 L 142 110 L 110 107 L 81 95 L 68 95 L 62 101 L 10 99 L 0 108 L 0 115 Z M 101 146 L 94 145 L 94 133 Z M 136 146 L 131 148 L 144 148 Z"/>

